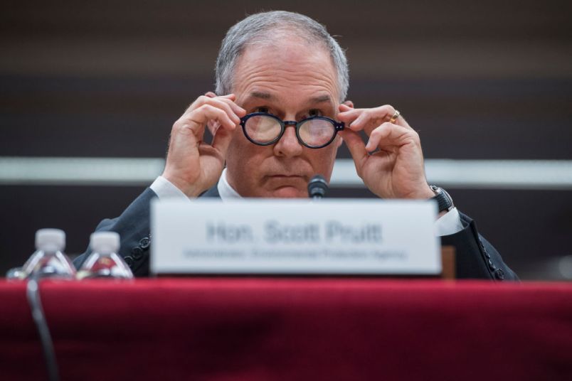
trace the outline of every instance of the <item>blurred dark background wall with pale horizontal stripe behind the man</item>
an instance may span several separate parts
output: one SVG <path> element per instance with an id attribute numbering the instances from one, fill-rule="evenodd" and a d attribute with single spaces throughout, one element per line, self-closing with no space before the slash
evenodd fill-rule
<path id="1" fill-rule="evenodd" d="M 80 254 L 161 173 L 227 29 L 298 11 L 347 49 L 349 99 L 420 132 L 428 181 L 522 279 L 572 278 L 570 1 L 3 1 L 0 273 L 41 227 Z M 371 197 L 346 149 L 334 196 Z"/>

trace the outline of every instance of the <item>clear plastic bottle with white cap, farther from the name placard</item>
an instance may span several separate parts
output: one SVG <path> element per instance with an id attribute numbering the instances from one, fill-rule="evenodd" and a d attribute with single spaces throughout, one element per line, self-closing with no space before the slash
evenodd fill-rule
<path id="1" fill-rule="evenodd" d="M 59 229 L 40 229 L 36 232 L 36 252 L 16 275 L 20 279 L 31 277 L 75 278 L 75 267 L 67 255 L 65 232 Z"/>

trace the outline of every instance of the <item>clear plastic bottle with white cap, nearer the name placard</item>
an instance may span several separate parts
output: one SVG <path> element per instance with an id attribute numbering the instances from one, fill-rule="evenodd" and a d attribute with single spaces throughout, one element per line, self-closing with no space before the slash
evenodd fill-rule
<path id="1" fill-rule="evenodd" d="M 133 273 L 117 252 L 120 235 L 116 232 L 95 232 L 90 237 L 92 253 L 78 272 L 78 279 L 119 278 L 132 279 Z"/>

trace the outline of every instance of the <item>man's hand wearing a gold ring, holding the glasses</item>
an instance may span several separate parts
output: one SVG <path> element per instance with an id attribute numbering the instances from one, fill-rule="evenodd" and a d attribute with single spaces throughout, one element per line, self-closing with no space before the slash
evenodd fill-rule
<path id="1" fill-rule="evenodd" d="M 356 164 L 358 176 L 369 190 L 381 198 L 431 198 L 425 178 L 419 135 L 398 117 L 390 105 L 373 109 L 353 109 L 340 104 L 338 119 L 349 128 L 340 132 Z M 369 141 L 358 132 L 364 130 Z M 378 149 L 378 151 L 376 151 Z M 370 154 L 370 152 L 374 152 Z"/>

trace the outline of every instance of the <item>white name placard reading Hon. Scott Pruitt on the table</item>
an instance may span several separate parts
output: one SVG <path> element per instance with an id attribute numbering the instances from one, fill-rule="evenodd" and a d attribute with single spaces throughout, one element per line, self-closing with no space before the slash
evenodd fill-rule
<path id="1" fill-rule="evenodd" d="M 406 200 L 154 200 L 154 274 L 440 274 L 437 208 Z"/>

